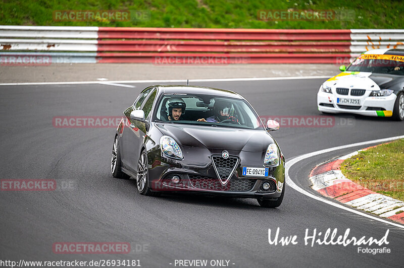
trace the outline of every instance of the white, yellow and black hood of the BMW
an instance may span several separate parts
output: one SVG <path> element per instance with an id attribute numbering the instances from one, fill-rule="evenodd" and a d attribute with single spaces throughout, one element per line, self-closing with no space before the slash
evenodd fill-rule
<path id="1" fill-rule="evenodd" d="M 327 86 L 360 89 L 400 90 L 404 78 L 390 74 L 372 74 L 369 72 L 342 72 L 326 81 Z"/>

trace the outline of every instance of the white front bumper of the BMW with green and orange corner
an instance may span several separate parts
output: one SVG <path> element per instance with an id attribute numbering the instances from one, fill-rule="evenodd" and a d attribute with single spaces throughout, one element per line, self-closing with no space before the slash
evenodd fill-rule
<path id="1" fill-rule="evenodd" d="M 387 97 L 370 97 L 371 90 L 363 96 L 339 95 L 336 93 L 317 93 L 317 107 L 321 112 L 327 113 L 355 113 L 368 116 L 390 117 L 393 115 L 394 102 L 397 96 L 393 93 Z M 341 105 L 338 98 L 357 99 L 360 105 Z"/>

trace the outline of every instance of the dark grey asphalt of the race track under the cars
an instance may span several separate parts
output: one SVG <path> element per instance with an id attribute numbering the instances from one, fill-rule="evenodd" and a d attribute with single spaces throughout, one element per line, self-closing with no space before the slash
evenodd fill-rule
<path id="1" fill-rule="evenodd" d="M 195 82 L 243 95 L 260 116 L 318 116 L 324 79 Z M 0 192 L 0 259 L 139 259 L 142 267 L 171 267 L 176 259 L 227 259 L 231 267 L 398 267 L 404 229 L 318 202 L 286 186 L 278 209 L 255 199 L 142 196 L 134 180 L 110 174 L 114 128 L 56 128 L 55 116 L 120 116 L 148 84 L 0 86 L 2 179 L 55 179 L 69 189 Z M 404 134 L 404 122 L 336 115 L 332 127 L 281 127 L 272 132 L 286 160 L 313 151 Z M 310 170 L 360 148 L 298 162 L 290 178 L 310 189 Z M 297 235 L 296 245 L 270 245 L 268 229 Z M 309 233 L 338 229 L 380 239 L 390 253 L 358 253 L 354 245 L 305 245 Z M 55 254 L 56 242 L 129 242 L 125 255 Z M 144 246 L 139 250 L 140 246 Z M 137 250 L 136 250 L 137 249 Z M 170 264 L 172 263 L 172 264 Z M 233 264 L 234 263 L 234 264 Z"/>

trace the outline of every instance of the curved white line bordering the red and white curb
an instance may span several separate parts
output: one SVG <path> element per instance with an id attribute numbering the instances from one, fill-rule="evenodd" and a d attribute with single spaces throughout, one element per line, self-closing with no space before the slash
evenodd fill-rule
<path id="1" fill-rule="evenodd" d="M 354 209 L 347 208 L 347 207 L 342 206 L 342 205 L 340 205 L 340 204 L 338 204 L 336 202 L 333 202 L 333 201 L 331 201 L 329 199 L 326 199 L 326 198 L 323 198 L 321 196 L 318 196 L 318 195 L 315 195 L 313 193 L 310 193 L 310 192 L 300 188 L 299 186 L 297 186 L 289 176 L 289 169 L 294 164 L 296 164 L 297 162 L 300 162 L 300 161 L 305 160 L 307 158 L 317 156 L 317 155 L 321 155 L 321 154 L 325 154 L 325 153 L 329 153 L 329 152 L 332 152 L 332 151 L 341 150 L 341 149 L 357 147 L 357 146 L 365 146 L 365 145 L 376 144 L 376 143 L 384 143 L 384 142 L 394 141 L 394 140 L 398 140 L 398 139 L 404 139 L 404 135 L 403 136 L 391 137 L 391 138 L 385 138 L 385 139 L 379 139 L 379 140 L 373 140 L 373 141 L 367 141 L 367 142 L 361 142 L 361 143 L 354 143 L 354 144 L 337 146 L 337 147 L 328 148 L 328 149 L 324 149 L 324 150 L 320 150 L 320 151 L 316 151 L 316 152 L 312 152 L 312 153 L 309 153 L 309 154 L 305 154 L 305 155 L 295 157 L 295 158 L 289 160 L 288 162 L 286 162 L 286 170 L 285 170 L 286 183 L 287 183 L 287 185 L 289 185 L 290 187 L 292 187 L 296 191 L 298 191 L 298 192 L 300 192 L 302 194 L 305 194 L 305 195 L 307 195 L 307 196 L 309 196 L 309 197 L 311 197 L 313 199 L 319 200 L 319 201 L 321 201 L 321 202 L 323 202 L 325 204 L 331 205 L 333 207 L 336 207 L 336 208 L 339 208 L 339 209 L 342 209 L 342 210 L 345 210 L 345 211 L 348 211 L 348 212 L 351 212 L 351 213 L 358 214 L 358 215 L 363 216 L 363 217 L 367 217 L 367 218 L 372 219 L 372 220 L 376 220 L 376 221 L 379 221 L 379 222 L 382 222 L 382 223 L 386 223 L 386 224 L 389 224 L 389 225 L 404 229 L 404 225 L 389 222 L 389 221 L 386 221 L 386 220 L 383 220 L 383 219 L 368 215 L 366 213 L 363 213 L 363 212 L 360 212 L 360 211 L 357 211 L 357 210 L 354 210 Z"/>

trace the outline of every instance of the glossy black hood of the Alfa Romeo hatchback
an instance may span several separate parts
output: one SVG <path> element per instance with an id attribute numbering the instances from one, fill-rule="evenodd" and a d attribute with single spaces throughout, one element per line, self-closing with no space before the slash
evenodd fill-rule
<path id="1" fill-rule="evenodd" d="M 263 152 L 274 139 L 265 130 L 236 129 L 215 126 L 157 124 L 163 135 L 172 137 L 179 145 Z"/>

